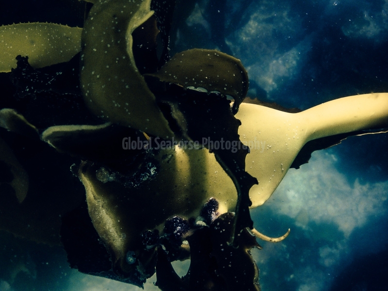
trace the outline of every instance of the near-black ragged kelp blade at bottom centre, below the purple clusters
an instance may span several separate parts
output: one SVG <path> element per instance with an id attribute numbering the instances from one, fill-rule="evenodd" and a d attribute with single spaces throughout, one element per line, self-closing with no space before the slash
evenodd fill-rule
<path id="1" fill-rule="evenodd" d="M 226 212 L 210 227 L 201 227 L 187 238 L 190 269 L 183 278 L 175 273 L 164 251 L 159 248 L 156 265 L 157 286 L 162 291 L 260 291 L 259 270 L 250 250 L 260 247 L 248 230 L 228 245 L 233 232 L 233 213 Z"/>

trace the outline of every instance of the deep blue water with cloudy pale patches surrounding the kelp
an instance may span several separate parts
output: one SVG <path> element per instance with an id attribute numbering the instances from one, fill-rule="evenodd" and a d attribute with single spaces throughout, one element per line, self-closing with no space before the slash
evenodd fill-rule
<path id="1" fill-rule="evenodd" d="M 303 110 L 339 97 L 388 92 L 387 0 L 213 2 L 215 7 L 197 2 L 175 31 L 172 52 L 200 47 L 232 53 L 248 71 L 250 97 Z M 4 24 L 82 25 L 65 1 L 2 5 Z M 225 18 L 218 31 L 212 29 L 216 13 Z M 259 242 L 263 249 L 252 252 L 263 291 L 388 290 L 387 146 L 388 134 L 368 135 L 316 152 L 252 210 L 255 227 L 268 236 L 291 228 L 283 242 Z M 154 281 L 145 289 L 158 290 Z M 78 273 L 67 266 L 62 248 L 0 232 L 0 291 L 108 289 L 139 288 Z"/>

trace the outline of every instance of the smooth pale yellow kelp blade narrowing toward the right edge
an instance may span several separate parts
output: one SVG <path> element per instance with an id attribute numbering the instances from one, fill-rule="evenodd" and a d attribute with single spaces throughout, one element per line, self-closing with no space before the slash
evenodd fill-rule
<path id="1" fill-rule="evenodd" d="M 242 103 L 236 117 L 242 121 L 239 128 L 242 142 L 251 151 L 245 159 L 246 171 L 259 180 L 259 185 L 254 185 L 249 192 L 254 208 L 274 193 L 308 141 L 357 130 L 387 128 L 388 93 L 343 97 L 300 113 Z"/>

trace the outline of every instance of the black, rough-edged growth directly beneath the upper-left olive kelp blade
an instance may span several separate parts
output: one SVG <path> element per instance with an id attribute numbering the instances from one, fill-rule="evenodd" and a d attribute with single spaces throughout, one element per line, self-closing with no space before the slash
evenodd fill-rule
<path id="1" fill-rule="evenodd" d="M 67 63 L 34 69 L 28 57 L 17 56 L 16 69 L 10 73 L 16 87 L 14 109 L 41 129 L 53 125 L 101 124 L 84 104 L 79 58 L 77 54 Z"/>

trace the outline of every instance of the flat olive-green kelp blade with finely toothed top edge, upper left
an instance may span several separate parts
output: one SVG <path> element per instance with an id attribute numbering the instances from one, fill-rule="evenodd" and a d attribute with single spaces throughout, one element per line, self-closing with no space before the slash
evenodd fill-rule
<path id="1" fill-rule="evenodd" d="M 16 68 L 16 56 L 28 56 L 34 68 L 68 62 L 81 50 L 78 27 L 55 23 L 19 23 L 0 27 L 0 72 Z"/>

